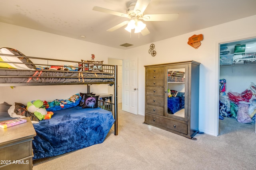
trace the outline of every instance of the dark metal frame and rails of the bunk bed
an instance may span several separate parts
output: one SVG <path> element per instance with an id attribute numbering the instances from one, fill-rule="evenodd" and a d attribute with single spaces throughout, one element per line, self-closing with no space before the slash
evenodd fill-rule
<path id="1" fill-rule="evenodd" d="M 5 55 L 5 54 L 0 54 L 0 56 L 7 56 L 7 57 L 25 57 L 27 59 L 34 59 L 34 60 L 43 60 L 43 61 L 47 61 L 47 64 L 37 64 L 37 63 L 16 63 L 16 62 L 6 62 L 6 61 L 0 61 L 1 63 L 11 63 L 11 64 L 26 64 L 26 65 L 39 65 L 39 66 L 63 66 L 60 64 L 49 64 L 49 61 L 55 61 L 55 62 L 66 62 L 66 63 L 76 63 L 76 64 L 87 64 L 90 65 L 92 63 L 87 63 L 87 62 L 79 62 L 79 61 L 70 61 L 70 60 L 59 60 L 59 59 L 49 59 L 49 58 L 41 58 L 41 57 L 28 57 L 28 56 L 20 56 L 20 55 Z M 114 135 L 118 135 L 118 101 L 117 101 L 117 65 L 109 65 L 109 64 L 98 64 L 102 66 L 102 70 L 104 70 L 104 72 L 93 72 L 93 71 L 72 71 L 72 72 L 78 72 L 78 73 L 82 73 L 82 74 L 88 74 L 88 73 L 100 73 L 100 74 L 112 74 L 114 76 L 114 81 L 109 81 L 109 82 L 53 82 L 53 83 L 43 83 L 43 82 L 38 82 L 38 83 L 0 83 L 0 86 L 48 86 L 48 85 L 75 85 L 75 84 L 87 84 L 87 92 L 90 92 L 90 85 L 92 84 L 113 84 L 114 86 L 114 103 L 109 103 L 111 105 L 114 105 Z M 89 67 L 84 67 L 84 66 L 72 66 L 72 67 L 76 67 L 80 69 L 83 68 L 89 68 Z M 13 68 L 0 68 L 0 72 L 1 70 L 20 70 L 20 69 L 13 69 Z M 31 71 L 31 70 L 29 70 Z M 36 71 L 36 70 L 35 70 Z M 71 72 L 71 71 L 65 71 L 65 70 L 39 70 L 39 71 L 46 71 L 46 72 Z M 87 76 L 7 76 L 7 75 L 0 75 L 0 78 L 98 78 L 98 77 L 87 77 Z M 104 77 L 107 78 L 108 77 Z M 111 77 L 113 78 L 113 77 Z M 105 102 L 105 101 L 100 101 L 100 102 Z"/>

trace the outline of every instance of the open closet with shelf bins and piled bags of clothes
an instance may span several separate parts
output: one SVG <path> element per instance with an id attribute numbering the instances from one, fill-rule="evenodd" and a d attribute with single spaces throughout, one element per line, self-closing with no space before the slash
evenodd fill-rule
<path id="1" fill-rule="evenodd" d="M 256 37 L 219 44 L 218 135 L 256 133 Z"/>

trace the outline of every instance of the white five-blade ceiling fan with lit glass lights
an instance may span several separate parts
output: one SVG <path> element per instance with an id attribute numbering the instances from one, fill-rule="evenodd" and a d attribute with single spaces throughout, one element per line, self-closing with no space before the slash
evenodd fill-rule
<path id="1" fill-rule="evenodd" d="M 142 35 L 147 35 L 150 31 L 147 29 L 146 24 L 143 23 L 141 20 L 144 21 L 172 21 L 178 18 L 178 14 L 145 14 L 144 11 L 146 10 L 150 0 L 137 0 L 137 2 L 131 2 L 130 6 L 126 10 L 126 14 L 109 10 L 106 8 L 102 8 L 99 6 L 94 6 L 92 10 L 98 12 L 104 12 L 108 14 L 112 14 L 115 16 L 129 18 L 129 20 L 119 23 L 118 25 L 108 29 L 107 31 L 115 31 L 127 24 L 126 31 L 131 32 L 134 29 L 134 33 L 141 33 Z"/>

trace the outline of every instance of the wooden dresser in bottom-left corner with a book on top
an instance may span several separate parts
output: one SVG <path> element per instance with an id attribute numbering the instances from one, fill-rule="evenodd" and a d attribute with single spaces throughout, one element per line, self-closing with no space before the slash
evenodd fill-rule
<path id="1" fill-rule="evenodd" d="M 0 169 L 32 170 L 32 140 L 36 131 L 26 117 L 26 123 L 0 128 Z"/>

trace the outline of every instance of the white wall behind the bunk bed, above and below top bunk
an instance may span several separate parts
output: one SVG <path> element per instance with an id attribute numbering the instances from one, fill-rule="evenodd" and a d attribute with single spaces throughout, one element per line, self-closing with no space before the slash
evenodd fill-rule
<path id="1" fill-rule="evenodd" d="M 94 54 L 95 60 L 104 61 L 103 64 L 108 63 L 108 58 L 120 59 L 120 56 L 124 56 L 124 51 L 120 49 L 1 22 L 0 39 L 0 47 L 17 49 L 26 56 L 81 61 L 81 59 L 90 60 L 91 54 Z M 67 99 L 73 94 L 86 91 L 86 85 L 17 86 L 14 89 L 0 87 L 0 103 L 26 104 L 37 99 Z M 108 86 L 106 84 L 92 85 L 90 91 L 108 93 Z"/>

